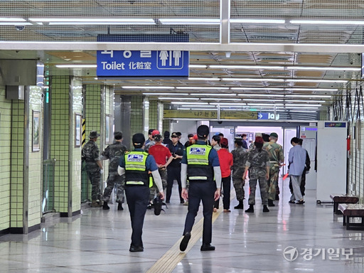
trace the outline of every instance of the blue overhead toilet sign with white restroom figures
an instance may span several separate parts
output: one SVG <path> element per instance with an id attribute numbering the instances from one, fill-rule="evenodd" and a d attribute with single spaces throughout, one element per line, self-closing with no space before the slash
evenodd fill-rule
<path id="1" fill-rule="evenodd" d="M 186 35 L 100 36 L 110 42 L 185 42 Z M 188 77 L 189 52 L 181 50 L 97 50 L 97 77 Z"/>

